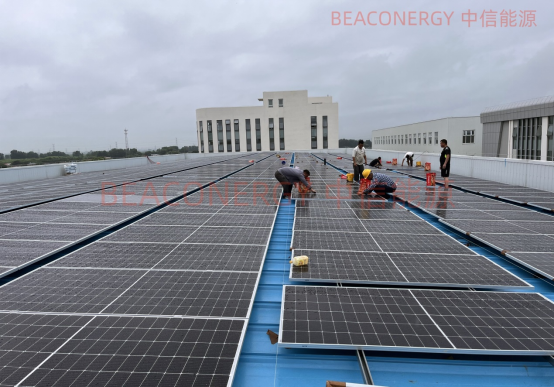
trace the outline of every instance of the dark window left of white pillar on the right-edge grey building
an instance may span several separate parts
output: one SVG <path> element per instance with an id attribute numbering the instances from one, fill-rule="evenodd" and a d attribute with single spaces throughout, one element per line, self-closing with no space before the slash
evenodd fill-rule
<path id="1" fill-rule="evenodd" d="M 540 160 L 541 142 L 542 117 L 514 121 L 514 144 L 517 144 L 518 159 Z"/>

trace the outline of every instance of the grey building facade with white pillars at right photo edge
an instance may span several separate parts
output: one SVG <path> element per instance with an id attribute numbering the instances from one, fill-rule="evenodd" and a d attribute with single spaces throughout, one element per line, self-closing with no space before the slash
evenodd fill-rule
<path id="1" fill-rule="evenodd" d="M 488 108 L 481 122 L 483 156 L 554 161 L 554 96 Z"/>

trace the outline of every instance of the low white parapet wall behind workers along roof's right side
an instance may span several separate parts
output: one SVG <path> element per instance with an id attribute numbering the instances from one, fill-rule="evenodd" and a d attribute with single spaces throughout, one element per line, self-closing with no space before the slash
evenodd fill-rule
<path id="1" fill-rule="evenodd" d="M 385 163 L 387 161 L 392 161 L 393 158 L 398 159 L 398 165 L 400 165 L 405 153 L 404 151 L 369 149 L 368 161 L 369 159 L 380 156 L 385 166 L 387 166 Z M 440 154 L 414 153 L 414 161 L 421 161 L 422 165 L 431 163 L 431 169 L 433 171 L 440 170 Z M 504 159 L 498 157 L 477 157 L 454 154 L 452 155 L 450 172 L 462 176 L 554 192 L 554 163 L 551 161 Z"/>

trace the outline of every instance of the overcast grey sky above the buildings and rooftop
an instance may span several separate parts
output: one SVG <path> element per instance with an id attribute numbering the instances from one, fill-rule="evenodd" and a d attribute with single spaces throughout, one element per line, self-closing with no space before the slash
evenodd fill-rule
<path id="1" fill-rule="evenodd" d="M 510 9 L 518 25 L 535 10 L 536 26 L 500 27 Z M 468 10 L 498 12 L 497 27 L 468 27 Z M 333 11 L 454 14 L 333 26 Z M 130 147 L 197 145 L 197 108 L 263 91 L 333 96 L 341 138 L 479 115 L 554 94 L 552 15 L 551 0 L 0 0 L 0 152 L 124 147 L 125 128 Z"/>

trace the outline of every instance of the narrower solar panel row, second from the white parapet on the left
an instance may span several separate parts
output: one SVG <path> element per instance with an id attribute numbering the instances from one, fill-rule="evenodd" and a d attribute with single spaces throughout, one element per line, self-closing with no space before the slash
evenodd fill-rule
<path id="1" fill-rule="evenodd" d="M 6 269 L 0 277 L 248 165 L 246 158 L 213 165 L 211 158 L 200 160 L 205 166 L 0 214 L 0 267 Z M 162 171 L 198 163 L 164 164 Z M 113 177 L 110 172 L 106 176 Z"/>

